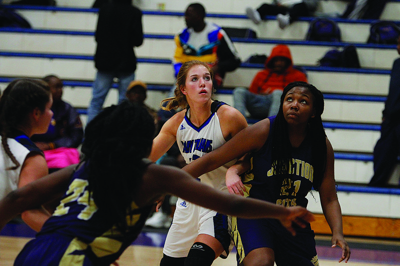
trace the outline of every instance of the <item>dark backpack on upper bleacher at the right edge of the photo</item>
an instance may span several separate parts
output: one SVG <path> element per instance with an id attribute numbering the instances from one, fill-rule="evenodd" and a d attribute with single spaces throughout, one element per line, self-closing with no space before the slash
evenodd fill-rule
<path id="1" fill-rule="evenodd" d="M 369 29 L 368 43 L 397 44 L 400 27 L 392 21 L 375 21 Z"/>

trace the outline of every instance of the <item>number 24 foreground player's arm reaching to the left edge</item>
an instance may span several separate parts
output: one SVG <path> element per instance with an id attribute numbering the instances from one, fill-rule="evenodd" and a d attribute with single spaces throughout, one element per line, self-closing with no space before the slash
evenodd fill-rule
<path id="1" fill-rule="evenodd" d="M 12 218 L 26 210 L 59 197 L 65 192 L 76 165 L 71 165 L 10 192 L 0 201 L 0 229 Z"/>

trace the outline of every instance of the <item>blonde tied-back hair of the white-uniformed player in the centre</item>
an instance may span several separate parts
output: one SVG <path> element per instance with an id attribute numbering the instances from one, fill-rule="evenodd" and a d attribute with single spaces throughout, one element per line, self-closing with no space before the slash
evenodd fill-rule
<path id="1" fill-rule="evenodd" d="M 182 108 L 185 109 L 188 105 L 187 100 L 186 100 L 186 95 L 184 95 L 181 91 L 181 88 L 185 86 L 186 82 L 186 77 L 187 73 L 189 70 L 195 66 L 195 65 L 202 65 L 205 68 L 207 68 L 211 80 L 213 80 L 213 72 L 211 68 L 204 62 L 198 61 L 198 60 L 190 60 L 182 64 L 182 66 L 179 69 L 177 78 L 176 78 L 176 83 L 175 83 L 175 90 L 173 91 L 174 97 L 166 98 L 163 99 L 160 103 L 160 108 L 163 110 L 170 111 L 172 109 L 177 109 L 177 108 Z M 163 105 L 163 103 L 167 103 L 166 106 Z"/>

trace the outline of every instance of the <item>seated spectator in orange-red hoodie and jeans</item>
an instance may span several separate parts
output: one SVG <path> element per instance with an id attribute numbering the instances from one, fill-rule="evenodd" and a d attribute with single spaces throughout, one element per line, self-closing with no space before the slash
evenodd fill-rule
<path id="1" fill-rule="evenodd" d="M 289 47 L 278 44 L 272 48 L 264 69 L 254 76 L 248 90 L 243 87 L 233 90 L 233 107 L 244 117 L 247 110 L 254 119 L 276 115 L 283 88 L 293 81 L 307 82 L 307 77 L 293 68 Z"/>

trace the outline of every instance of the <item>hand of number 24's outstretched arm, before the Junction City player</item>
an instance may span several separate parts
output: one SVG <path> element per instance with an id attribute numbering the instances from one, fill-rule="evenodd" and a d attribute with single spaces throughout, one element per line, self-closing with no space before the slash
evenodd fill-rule
<path id="1" fill-rule="evenodd" d="M 280 223 L 293 235 L 296 231 L 293 228 L 293 223 L 301 228 L 305 228 L 310 222 L 314 221 L 314 215 L 307 209 L 299 206 L 287 207 L 289 214 L 280 218 Z"/>

